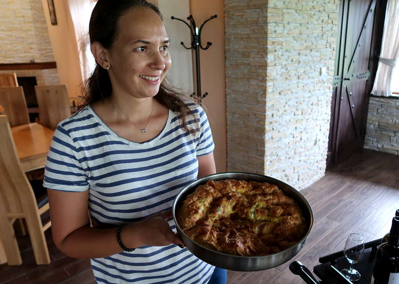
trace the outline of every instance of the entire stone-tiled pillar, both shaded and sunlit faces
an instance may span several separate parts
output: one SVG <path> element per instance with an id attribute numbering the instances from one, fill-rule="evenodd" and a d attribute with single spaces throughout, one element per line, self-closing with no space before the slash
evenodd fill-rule
<path id="1" fill-rule="evenodd" d="M 228 170 L 323 177 L 338 0 L 225 0 Z"/>

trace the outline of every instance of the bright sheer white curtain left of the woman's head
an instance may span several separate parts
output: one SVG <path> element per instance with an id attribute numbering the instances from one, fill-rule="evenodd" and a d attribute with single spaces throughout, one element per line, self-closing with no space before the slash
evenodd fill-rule
<path id="1" fill-rule="evenodd" d="M 80 71 L 86 80 L 95 67 L 95 59 L 90 51 L 89 22 L 95 1 L 68 0 L 71 18 L 74 23 L 77 49 L 79 51 Z"/>

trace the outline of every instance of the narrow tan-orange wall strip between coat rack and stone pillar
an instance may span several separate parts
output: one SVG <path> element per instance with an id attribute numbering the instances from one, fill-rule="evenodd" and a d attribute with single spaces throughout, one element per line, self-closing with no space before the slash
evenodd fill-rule
<path id="1" fill-rule="evenodd" d="M 224 2 L 190 0 L 190 12 L 198 27 L 210 16 L 217 15 L 216 19 L 211 19 L 202 29 L 202 45 L 205 47 L 207 41 L 212 42 L 212 45 L 208 50 L 200 50 L 200 66 L 201 90 L 203 94 L 209 93 L 202 99 L 202 104 L 208 114 L 215 143 L 213 154 L 216 170 L 222 172 L 227 170 Z M 188 28 L 182 26 L 182 29 L 188 33 Z"/>

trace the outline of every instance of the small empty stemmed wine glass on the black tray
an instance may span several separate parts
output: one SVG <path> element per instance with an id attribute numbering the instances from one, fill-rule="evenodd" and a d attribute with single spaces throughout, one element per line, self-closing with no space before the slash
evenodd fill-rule
<path id="1" fill-rule="evenodd" d="M 363 237 L 357 233 L 350 233 L 346 239 L 345 248 L 343 249 L 343 254 L 350 263 L 350 267 L 341 270 L 342 274 L 350 281 L 358 281 L 360 279 L 360 273 L 356 269 L 353 269 L 353 264 L 360 263 L 363 257 L 363 251 Z"/>

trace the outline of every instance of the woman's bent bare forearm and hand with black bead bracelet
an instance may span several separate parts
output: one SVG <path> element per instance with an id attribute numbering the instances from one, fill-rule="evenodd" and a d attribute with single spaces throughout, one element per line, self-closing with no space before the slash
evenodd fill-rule
<path id="1" fill-rule="evenodd" d="M 67 192 L 48 189 L 53 240 L 60 251 L 73 258 L 99 258 L 119 253 L 116 227 L 90 227 L 89 190 Z M 121 240 L 128 248 L 167 246 L 183 242 L 172 232 L 165 219 L 171 211 L 160 212 L 123 227 Z"/>

